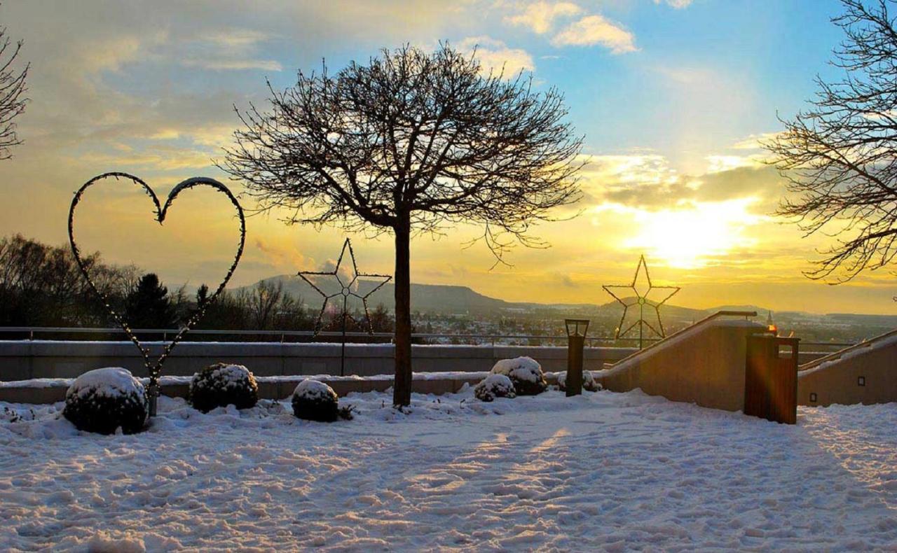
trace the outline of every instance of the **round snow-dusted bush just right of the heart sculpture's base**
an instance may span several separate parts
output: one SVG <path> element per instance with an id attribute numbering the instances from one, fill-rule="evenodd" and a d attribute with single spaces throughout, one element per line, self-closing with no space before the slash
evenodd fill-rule
<path id="1" fill-rule="evenodd" d="M 204 413 L 228 405 L 248 409 L 258 401 L 256 378 L 242 365 L 215 363 L 193 376 L 189 401 Z"/>

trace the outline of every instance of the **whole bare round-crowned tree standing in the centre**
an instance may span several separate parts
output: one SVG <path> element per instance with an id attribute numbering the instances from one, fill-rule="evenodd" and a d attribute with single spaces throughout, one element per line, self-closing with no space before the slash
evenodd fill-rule
<path id="1" fill-rule="evenodd" d="M 238 111 L 244 128 L 222 163 L 289 223 L 394 235 L 396 405 L 411 401 L 412 231 L 479 224 L 501 261 L 515 241 L 543 245 L 527 231 L 579 199 L 581 139 L 562 94 L 480 70 L 447 45 L 405 46 L 333 76 L 300 72 L 283 92 L 269 83 L 271 110 Z"/>

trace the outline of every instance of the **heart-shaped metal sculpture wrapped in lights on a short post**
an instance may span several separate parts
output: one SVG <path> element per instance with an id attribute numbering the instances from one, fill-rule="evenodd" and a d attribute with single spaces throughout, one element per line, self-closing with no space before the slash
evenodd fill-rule
<path id="1" fill-rule="evenodd" d="M 178 194 L 187 190 L 188 188 L 193 188 L 194 186 L 211 186 L 213 189 L 221 192 L 226 195 L 233 206 L 237 209 L 237 215 L 239 217 L 239 247 L 237 248 L 237 253 L 233 256 L 233 263 L 231 267 L 228 269 L 226 275 L 224 275 L 224 279 L 221 281 L 221 284 L 218 285 L 218 288 L 215 289 L 213 294 L 209 296 L 202 305 L 197 306 L 196 312 L 187 319 L 187 322 L 180 328 L 179 332 L 175 335 L 174 339 L 165 345 L 165 348 L 162 350 L 161 356 L 158 359 L 152 360 L 150 359 L 150 350 L 149 348 L 145 348 L 144 345 L 137 339 L 135 333 L 131 330 L 131 327 L 127 324 L 127 321 L 119 315 L 118 312 L 111 306 L 109 302 L 109 296 L 107 296 L 93 281 L 91 278 L 90 272 L 87 270 L 87 265 L 84 264 L 84 261 L 81 257 L 81 251 L 78 248 L 78 245 L 74 241 L 74 210 L 78 206 L 78 203 L 81 202 L 82 197 L 84 195 L 84 191 L 86 191 L 89 187 L 96 184 L 100 180 L 105 178 L 114 177 L 116 180 L 119 178 L 126 178 L 130 180 L 137 186 L 141 186 L 144 189 L 144 192 L 150 196 L 152 203 L 155 205 L 155 213 L 156 220 L 161 225 L 165 221 L 165 214 L 168 212 L 171 203 L 174 202 L 175 198 L 178 197 Z M 187 333 L 202 316 L 205 314 L 205 309 L 209 307 L 209 305 L 218 298 L 219 294 L 222 293 L 222 290 L 225 286 L 227 286 L 228 281 L 231 280 L 231 275 L 233 275 L 234 270 L 237 268 L 237 264 L 239 264 L 239 258 L 243 255 L 243 246 L 246 244 L 246 219 L 243 216 L 243 208 L 239 205 L 237 198 L 231 194 L 231 190 L 228 189 L 227 186 L 222 185 L 222 183 L 218 182 L 213 178 L 207 177 L 193 177 L 188 178 L 187 180 L 181 182 L 178 186 L 175 186 L 171 189 L 171 192 L 168 195 L 168 199 L 165 201 L 164 205 L 160 205 L 159 198 L 156 197 L 156 194 L 152 191 L 149 185 L 144 183 L 143 180 L 137 178 L 133 175 L 128 175 L 127 173 L 103 173 L 97 177 L 91 178 L 91 180 L 84 183 L 84 185 L 78 189 L 78 191 L 74 194 L 74 199 L 72 200 L 72 206 L 68 210 L 68 241 L 72 246 L 72 254 L 74 255 L 74 260 L 78 264 L 78 268 L 81 270 L 81 273 L 84 275 L 84 279 L 87 280 L 87 283 L 90 285 L 91 289 L 97 296 L 102 300 L 103 305 L 109 311 L 109 315 L 112 315 L 112 318 L 115 319 L 116 323 L 121 326 L 122 330 L 127 334 L 128 339 L 134 343 L 138 350 L 140 350 L 140 354 L 144 357 L 144 366 L 146 367 L 147 372 L 150 376 L 150 414 L 154 416 L 156 414 L 156 398 L 159 396 L 159 376 L 161 375 L 162 363 L 165 362 L 165 359 L 168 359 L 171 350 L 178 344 L 178 342 L 184 337 L 184 334 Z"/>

